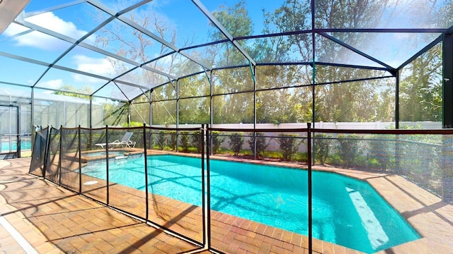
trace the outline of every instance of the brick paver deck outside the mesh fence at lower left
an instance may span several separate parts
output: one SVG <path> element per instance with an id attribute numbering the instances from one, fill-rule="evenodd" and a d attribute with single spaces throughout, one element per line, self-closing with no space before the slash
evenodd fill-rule
<path id="1" fill-rule="evenodd" d="M 0 214 L 38 253 L 200 250 L 144 222 L 28 175 L 30 158 L 8 162 L 0 169 Z M 25 253 L 3 226 L 0 253 Z"/>

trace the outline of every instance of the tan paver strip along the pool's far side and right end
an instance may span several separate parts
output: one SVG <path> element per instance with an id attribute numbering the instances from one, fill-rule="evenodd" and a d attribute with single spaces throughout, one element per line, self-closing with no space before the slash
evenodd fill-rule
<path id="1" fill-rule="evenodd" d="M 156 152 L 155 150 L 153 150 Z M 159 154 L 200 157 L 198 154 L 183 152 L 159 151 Z M 273 160 L 254 160 L 225 155 L 211 155 L 210 159 L 222 159 L 234 162 L 264 164 L 277 167 L 290 167 L 307 170 L 304 163 L 278 162 Z M 359 169 L 341 169 L 328 165 L 316 164 L 311 167 L 314 171 L 329 171 L 366 181 L 379 195 L 389 202 L 401 216 L 406 219 L 420 238 L 398 246 L 381 250 L 377 253 L 453 253 L 453 204 L 444 202 L 437 195 L 417 186 L 403 176 L 382 172 L 363 171 Z M 404 188 L 403 188 L 403 187 Z M 314 240 L 317 240 L 314 238 Z M 319 241 L 319 240 L 318 240 Z M 321 241 L 328 246 L 327 242 Z M 333 243 L 332 243 L 333 244 Z M 319 246 L 319 244 L 317 244 Z M 335 244 L 333 244 L 336 246 Z M 341 246 L 343 247 L 343 246 Z M 331 249 L 332 247 L 324 247 Z M 316 251 L 319 251 L 317 248 Z M 328 251 L 329 252 L 329 251 Z M 323 253 L 323 252 L 321 252 Z"/>

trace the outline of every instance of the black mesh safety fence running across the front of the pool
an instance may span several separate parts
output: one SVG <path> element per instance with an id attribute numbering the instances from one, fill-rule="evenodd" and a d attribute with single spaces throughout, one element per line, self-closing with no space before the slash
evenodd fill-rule
<path id="1" fill-rule="evenodd" d="M 294 249 L 308 241 L 310 225 L 314 238 L 365 252 L 383 250 L 399 236 L 407 236 L 407 241 L 419 237 L 407 225 L 423 204 L 453 200 L 453 135 L 315 130 L 207 128 L 202 135 L 200 128 L 52 128 L 44 154 L 45 129 L 37 135 L 30 173 L 182 238 L 202 243 L 208 231 L 212 248 L 225 253 L 256 251 L 253 241 L 244 241 L 249 234 Z M 314 163 L 313 224 L 308 218 L 309 157 Z M 364 198 L 374 191 L 379 191 L 374 198 L 385 198 L 378 205 Z M 396 193 L 401 202 L 394 201 Z M 333 206 L 337 208 L 325 209 Z M 386 209 L 400 214 L 387 216 Z M 340 221 L 339 213 L 362 217 Z M 393 224 L 402 215 L 408 220 L 385 234 L 373 224 Z M 430 223 L 426 219 L 424 226 Z M 362 224 L 372 226 L 354 229 Z M 364 230 L 365 236 L 374 237 L 375 246 L 348 246 Z M 332 231 L 343 233 L 333 239 Z"/>

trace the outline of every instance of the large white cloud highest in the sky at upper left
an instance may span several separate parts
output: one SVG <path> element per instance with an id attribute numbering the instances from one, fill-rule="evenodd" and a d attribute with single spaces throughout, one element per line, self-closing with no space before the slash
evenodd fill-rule
<path id="1" fill-rule="evenodd" d="M 74 23 L 64 21 L 62 20 L 62 18 L 55 16 L 55 14 L 52 12 L 31 16 L 29 18 L 25 18 L 25 21 L 39 25 L 42 28 L 46 28 L 48 30 L 58 32 L 62 35 L 72 37 L 76 40 L 86 35 L 87 33 L 84 30 L 77 29 Z M 5 30 L 5 35 L 16 35 L 18 32 L 22 32 L 23 29 L 24 28 L 21 26 L 9 26 L 8 29 Z M 38 31 L 29 32 L 28 34 L 14 38 L 14 40 L 16 40 L 19 46 L 37 47 L 39 49 L 45 50 L 67 47 L 67 44 L 65 45 L 62 40 L 56 39 Z M 87 40 L 93 40 L 93 37 L 89 37 Z"/>

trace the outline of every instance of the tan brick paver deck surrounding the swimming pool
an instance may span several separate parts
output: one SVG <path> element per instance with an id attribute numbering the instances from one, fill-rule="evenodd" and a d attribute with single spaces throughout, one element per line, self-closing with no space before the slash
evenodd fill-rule
<path id="1" fill-rule="evenodd" d="M 263 162 L 267 163 L 267 162 Z M 30 159 L 10 159 L 0 164 L 0 214 L 38 253 L 211 253 L 200 250 L 89 198 L 28 175 Z M 422 236 L 382 253 L 453 253 L 453 205 L 442 202 L 401 176 L 315 167 L 368 181 Z M 91 179 L 84 179 L 84 182 Z M 99 181 L 99 179 L 97 179 Z M 84 194 L 105 195 L 98 182 L 84 186 Z M 144 195 L 124 186 L 110 185 L 116 207 L 144 211 Z M 141 200 L 135 204 L 132 198 Z M 156 224 L 201 239 L 201 210 L 159 195 L 152 195 L 148 216 Z M 139 214 L 135 213 L 135 214 Z M 142 215 L 141 215 L 142 216 Z M 275 229 L 229 214 L 211 211 L 212 248 L 227 253 L 308 253 L 306 236 Z M 0 253 L 25 253 L 0 226 Z M 315 253 L 357 253 L 356 250 L 313 239 Z"/>

